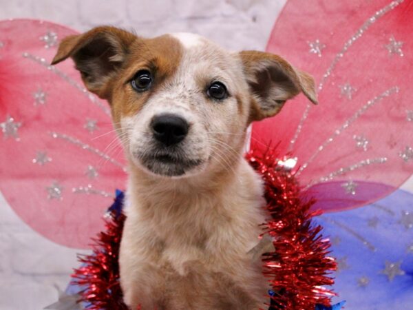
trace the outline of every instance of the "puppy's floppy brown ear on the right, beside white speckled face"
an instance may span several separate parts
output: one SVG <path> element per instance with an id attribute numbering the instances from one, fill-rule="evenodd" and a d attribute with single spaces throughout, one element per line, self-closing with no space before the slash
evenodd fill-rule
<path id="1" fill-rule="evenodd" d="M 282 57 L 257 51 L 243 51 L 240 56 L 255 99 L 251 121 L 277 114 L 284 103 L 299 92 L 303 92 L 312 103 L 318 103 L 313 77 L 293 68 Z"/>

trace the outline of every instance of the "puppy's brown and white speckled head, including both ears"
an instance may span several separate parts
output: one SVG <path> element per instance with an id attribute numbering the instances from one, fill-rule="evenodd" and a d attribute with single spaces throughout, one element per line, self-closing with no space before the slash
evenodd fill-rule
<path id="1" fill-rule="evenodd" d="M 264 52 L 228 52 L 195 34 L 142 39 L 112 27 L 67 37 L 87 88 L 112 107 L 127 157 L 157 176 L 230 169 L 251 121 L 277 114 L 299 92 L 317 102 L 313 79 Z"/>

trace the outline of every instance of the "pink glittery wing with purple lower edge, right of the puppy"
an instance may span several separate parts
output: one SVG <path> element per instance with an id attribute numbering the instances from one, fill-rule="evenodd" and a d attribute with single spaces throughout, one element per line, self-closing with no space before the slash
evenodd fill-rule
<path id="1" fill-rule="evenodd" d="M 319 105 L 299 95 L 253 124 L 251 145 L 279 143 L 315 207 L 371 203 L 413 172 L 413 1 L 290 0 L 267 51 L 315 76 Z"/>

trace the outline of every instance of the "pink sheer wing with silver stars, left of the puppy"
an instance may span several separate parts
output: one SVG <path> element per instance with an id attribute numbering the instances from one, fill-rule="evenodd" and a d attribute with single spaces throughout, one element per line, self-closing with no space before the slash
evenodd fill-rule
<path id="1" fill-rule="evenodd" d="M 0 190 L 25 223 L 67 247 L 103 229 L 125 161 L 109 106 L 72 61 L 50 66 L 76 34 L 45 21 L 0 22 Z"/>

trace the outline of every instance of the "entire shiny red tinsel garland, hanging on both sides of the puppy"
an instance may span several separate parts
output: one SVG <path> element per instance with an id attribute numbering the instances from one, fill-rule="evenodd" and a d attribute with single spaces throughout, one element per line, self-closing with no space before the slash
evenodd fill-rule
<path id="1" fill-rule="evenodd" d="M 263 257 L 264 274 L 273 286 L 271 309 L 312 310 L 316 304 L 330 304 L 332 285 L 329 273 L 336 263 L 327 255 L 330 242 L 322 238 L 319 225 L 313 226 L 310 211 L 313 200 L 302 201 L 297 180 L 277 165 L 277 154 L 250 152 L 248 162 L 262 175 L 265 183 L 266 209 L 271 220 L 264 223 L 266 233 L 273 237 L 275 252 Z M 82 267 L 72 277 L 81 287 L 81 301 L 87 309 L 127 310 L 119 285 L 118 253 L 125 216 L 112 211 L 106 231 L 94 239 L 92 255 L 79 260 Z"/>

